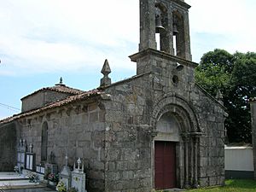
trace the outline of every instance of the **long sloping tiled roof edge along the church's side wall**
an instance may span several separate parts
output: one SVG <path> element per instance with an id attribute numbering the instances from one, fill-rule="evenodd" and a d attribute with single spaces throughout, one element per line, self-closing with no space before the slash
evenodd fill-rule
<path id="1" fill-rule="evenodd" d="M 61 107 L 63 105 L 66 105 L 67 103 L 84 100 L 84 99 L 90 98 L 91 96 L 100 96 L 103 93 L 104 92 L 102 90 L 83 91 L 80 94 L 77 94 L 77 95 L 74 95 L 74 96 L 68 96 L 66 99 L 63 99 L 61 101 L 52 102 L 49 105 L 44 106 L 43 108 L 33 109 L 33 110 L 25 112 L 25 113 L 18 113 L 18 114 L 15 114 L 12 117 L 2 119 L 2 120 L 0 120 L 0 124 L 9 123 L 9 122 L 11 122 L 15 119 L 20 119 L 22 117 L 26 117 L 26 116 L 29 116 L 29 115 L 32 115 L 32 114 L 35 114 L 35 113 L 39 113 L 39 112 L 42 112 L 42 111 L 47 110 L 47 109 L 58 108 L 58 107 Z"/>

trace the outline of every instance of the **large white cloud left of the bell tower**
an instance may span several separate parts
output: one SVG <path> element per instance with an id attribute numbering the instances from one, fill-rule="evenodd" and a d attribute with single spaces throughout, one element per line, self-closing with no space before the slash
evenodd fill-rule
<path id="1" fill-rule="evenodd" d="M 76 71 L 106 57 L 112 67 L 134 68 L 125 63 L 137 51 L 137 0 L 9 0 L 0 13 L 2 75 Z"/>

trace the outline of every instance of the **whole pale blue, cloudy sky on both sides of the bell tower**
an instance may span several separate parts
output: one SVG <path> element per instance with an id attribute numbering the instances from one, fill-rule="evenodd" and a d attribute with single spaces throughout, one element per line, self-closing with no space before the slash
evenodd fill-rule
<path id="1" fill-rule="evenodd" d="M 186 0 L 193 61 L 209 50 L 256 51 L 255 0 Z M 112 81 L 136 74 L 138 0 L 0 0 L 0 119 L 20 98 L 53 86 L 99 86 L 107 58 Z"/>

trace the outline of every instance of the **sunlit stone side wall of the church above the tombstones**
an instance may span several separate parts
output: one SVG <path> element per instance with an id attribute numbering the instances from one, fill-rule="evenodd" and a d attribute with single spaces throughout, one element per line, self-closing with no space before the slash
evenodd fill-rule
<path id="1" fill-rule="evenodd" d="M 97 102 L 78 102 L 20 119 L 21 137 L 26 139 L 27 145 L 33 144 L 37 165 L 40 164 L 42 125 L 47 122 L 47 152 L 48 156 L 50 152 L 55 154 L 59 171 L 65 165 L 66 154 L 71 167 L 80 157 L 84 162 L 88 191 L 101 192 L 105 177 L 104 121 L 105 112 Z"/>

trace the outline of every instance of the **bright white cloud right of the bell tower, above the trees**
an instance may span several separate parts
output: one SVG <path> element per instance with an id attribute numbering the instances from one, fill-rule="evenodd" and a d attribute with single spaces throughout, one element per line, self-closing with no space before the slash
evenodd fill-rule
<path id="1" fill-rule="evenodd" d="M 192 5 L 189 10 L 191 41 L 194 44 L 192 52 L 196 52 L 198 46 L 227 49 L 231 53 L 236 50 L 255 51 L 256 3 L 254 0 L 186 0 L 186 2 Z M 196 41 L 193 39 L 195 34 L 199 36 Z M 217 37 L 221 40 L 200 38 L 200 34 L 208 34 L 207 37 Z M 201 54 L 207 50 L 205 49 Z"/>

